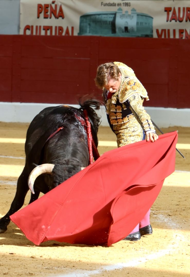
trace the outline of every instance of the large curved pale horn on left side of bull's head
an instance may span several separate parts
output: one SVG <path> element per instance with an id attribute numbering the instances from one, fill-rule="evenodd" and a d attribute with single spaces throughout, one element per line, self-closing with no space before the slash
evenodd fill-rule
<path id="1" fill-rule="evenodd" d="M 52 174 L 52 170 L 54 168 L 54 165 L 52 163 L 44 163 L 42 165 L 36 166 L 30 173 L 28 177 L 28 187 L 31 190 L 31 193 L 35 194 L 34 192 L 34 182 L 36 178 L 43 174 L 43 173 L 49 173 Z"/>

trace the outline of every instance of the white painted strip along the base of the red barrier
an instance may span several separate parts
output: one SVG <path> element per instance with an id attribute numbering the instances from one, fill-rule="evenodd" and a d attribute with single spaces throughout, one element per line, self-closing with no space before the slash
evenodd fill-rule
<path id="1" fill-rule="evenodd" d="M 62 103 L 68 106 L 79 107 L 78 105 Z M 31 120 L 41 110 L 50 106 L 59 106 L 62 104 L 51 103 L 20 103 L 20 102 L 0 102 L 0 121 L 3 122 L 31 122 Z M 190 109 L 176 109 L 163 107 L 145 107 L 151 116 L 151 119 L 161 127 L 181 126 L 190 127 Z M 109 126 L 105 107 L 97 111 L 101 116 L 101 126 Z"/>

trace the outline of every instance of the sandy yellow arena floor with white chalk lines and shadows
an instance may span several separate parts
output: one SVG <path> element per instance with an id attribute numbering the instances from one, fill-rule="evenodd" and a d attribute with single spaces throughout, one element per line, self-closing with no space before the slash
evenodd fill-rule
<path id="1" fill-rule="evenodd" d="M 16 182 L 25 163 L 24 143 L 28 124 L 0 122 L 0 217 L 9 210 Z M 153 234 L 137 242 L 120 241 L 110 247 L 70 245 L 50 241 L 35 246 L 14 223 L 0 234 L 0 276 L 106 276 L 188 277 L 190 128 L 178 130 L 176 171 L 165 179 L 152 206 Z M 159 134 L 159 132 L 158 132 Z M 109 127 L 100 127 L 99 153 L 116 148 Z M 30 194 L 27 194 L 27 205 Z"/>

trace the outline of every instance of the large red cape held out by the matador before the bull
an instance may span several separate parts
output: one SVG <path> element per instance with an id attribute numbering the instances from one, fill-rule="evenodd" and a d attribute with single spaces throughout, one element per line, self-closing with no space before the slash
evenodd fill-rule
<path id="1" fill-rule="evenodd" d="M 111 245 L 126 237 L 175 170 L 177 132 L 104 153 L 10 216 L 36 245 L 47 240 Z"/>

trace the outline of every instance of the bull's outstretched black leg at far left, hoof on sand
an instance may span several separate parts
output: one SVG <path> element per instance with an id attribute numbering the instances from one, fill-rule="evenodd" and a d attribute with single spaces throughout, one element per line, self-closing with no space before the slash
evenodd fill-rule
<path id="1" fill-rule="evenodd" d="M 25 196 L 29 190 L 28 188 L 28 175 L 25 174 L 23 170 L 22 174 L 20 175 L 18 181 L 17 181 L 17 190 L 15 197 L 12 201 L 12 204 L 10 206 L 9 211 L 7 214 L 0 219 L 0 234 L 4 233 L 7 230 L 7 225 L 10 223 L 10 215 L 14 214 L 14 212 L 17 212 L 24 204 Z"/>

